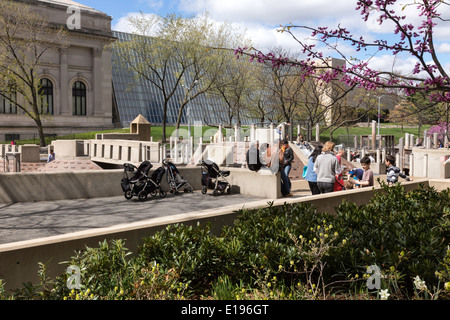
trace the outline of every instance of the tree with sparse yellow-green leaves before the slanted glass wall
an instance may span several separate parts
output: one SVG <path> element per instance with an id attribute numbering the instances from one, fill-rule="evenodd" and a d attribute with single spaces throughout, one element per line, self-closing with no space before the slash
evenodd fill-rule
<path id="1" fill-rule="evenodd" d="M 129 19 L 136 29 L 128 42 L 114 44 L 119 59 L 138 79 L 150 82 L 163 97 L 163 142 L 166 141 L 167 111 L 170 103 L 179 105 L 177 129 L 188 103 L 205 94 L 214 79 L 224 72 L 224 52 L 216 49 L 237 39 L 229 24 L 169 14 L 165 18 L 144 15 Z M 229 55 L 229 52 L 227 53 Z M 180 95 L 178 92 L 183 92 Z"/>

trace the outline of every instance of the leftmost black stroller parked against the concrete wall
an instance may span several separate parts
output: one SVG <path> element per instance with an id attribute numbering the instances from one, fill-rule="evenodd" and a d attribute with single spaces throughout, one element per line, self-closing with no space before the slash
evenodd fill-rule
<path id="1" fill-rule="evenodd" d="M 147 199 L 148 195 L 157 195 L 164 198 L 166 192 L 161 189 L 161 180 L 166 170 L 163 167 L 156 169 L 149 177 L 150 169 L 153 165 L 149 161 L 142 162 L 138 168 L 131 163 L 124 164 L 124 176 L 121 180 L 122 190 L 125 198 L 130 200 L 137 196 L 140 201 Z"/>

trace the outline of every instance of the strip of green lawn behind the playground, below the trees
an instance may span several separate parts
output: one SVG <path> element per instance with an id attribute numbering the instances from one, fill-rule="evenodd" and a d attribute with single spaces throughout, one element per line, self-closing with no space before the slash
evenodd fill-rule
<path id="1" fill-rule="evenodd" d="M 380 126 L 380 134 L 382 135 L 394 135 L 395 137 L 395 143 L 398 143 L 398 139 L 405 136 L 405 133 L 412 133 L 414 136 L 418 137 L 418 128 L 417 127 L 404 127 L 403 132 L 400 126 L 391 128 L 395 124 L 381 124 Z M 425 129 L 429 129 L 430 125 L 423 125 L 421 127 L 421 132 L 419 137 L 423 136 L 423 131 Z M 188 127 L 187 126 L 181 126 L 180 129 L 185 130 L 184 133 L 187 132 Z M 296 126 L 294 127 L 294 134 L 296 134 Z M 194 129 L 194 127 L 191 127 L 191 135 L 198 135 L 198 132 L 196 131 L 198 129 Z M 166 137 L 167 139 L 172 135 L 172 133 L 175 131 L 175 126 L 167 126 L 166 127 Z M 202 135 L 206 133 L 206 140 L 209 140 L 209 137 L 214 134 L 214 132 L 217 131 L 216 127 L 210 127 L 210 126 L 204 126 L 202 127 Z M 45 143 L 48 145 L 53 140 L 90 140 L 95 139 L 95 135 L 98 133 L 129 133 L 129 128 L 124 129 L 114 129 L 114 130 L 105 130 L 105 131 L 94 131 L 94 132 L 86 132 L 86 133 L 74 133 L 69 135 L 63 135 L 63 136 L 56 136 L 56 137 L 46 137 Z M 225 130 L 223 131 L 225 134 Z M 349 128 L 348 132 L 346 128 L 339 128 L 333 132 L 333 140 L 334 142 L 338 142 L 338 137 L 340 135 L 371 135 L 372 134 L 372 127 L 351 127 Z M 183 136 L 183 134 L 181 134 Z M 316 133 L 315 130 L 312 132 L 312 137 L 315 137 Z M 162 140 L 162 127 L 161 126 L 153 126 L 152 127 L 152 137 L 153 141 L 161 141 Z M 322 142 L 328 141 L 330 137 L 329 130 L 326 130 L 320 134 L 320 140 Z M 8 141 L 3 141 L 0 143 L 9 143 Z M 24 145 L 24 144 L 39 144 L 39 139 L 27 139 L 27 140 L 18 140 L 16 141 L 18 145 Z"/>

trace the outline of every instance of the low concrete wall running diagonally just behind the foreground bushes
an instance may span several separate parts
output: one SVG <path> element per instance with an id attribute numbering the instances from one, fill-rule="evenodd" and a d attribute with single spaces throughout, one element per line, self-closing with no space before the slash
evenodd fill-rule
<path id="1" fill-rule="evenodd" d="M 0 177 L 1 178 L 1 177 Z M 403 185 L 406 190 L 417 188 L 419 184 L 432 185 L 438 190 L 450 187 L 449 180 L 438 181 L 411 181 Z M 274 206 L 282 206 L 285 203 L 309 202 L 314 204 L 319 212 L 334 212 L 343 199 L 356 203 L 366 204 L 370 201 L 374 191 L 370 188 L 354 189 L 334 192 L 325 195 L 307 196 L 302 198 L 289 198 L 274 200 Z M 256 209 L 267 206 L 267 200 L 261 200 L 246 204 L 247 209 Z M 170 217 L 162 217 L 149 221 L 131 223 L 110 228 L 88 230 L 67 235 L 16 242 L 0 245 L 0 279 L 6 282 L 6 288 L 14 289 L 22 286 L 23 282 L 38 282 L 37 272 L 39 262 L 49 262 L 48 276 L 54 277 L 62 274 L 67 268 L 59 262 L 67 261 L 74 255 L 75 250 L 81 250 L 85 246 L 97 247 L 103 240 L 126 239 L 126 246 L 132 252 L 136 252 L 142 239 L 151 236 L 167 225 L 183 223 L 196 225 L 197 223 L 211 222 L 213 232 L 220 231 L 225 225 L 232 225 L 237 216 L 237 211 L 242 208 L 205 210 L 189 214 L 180 214 Z M 74 217 L 75 218 L 75 217 Z"/>

